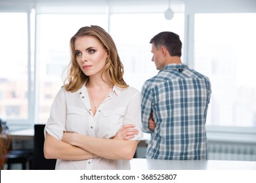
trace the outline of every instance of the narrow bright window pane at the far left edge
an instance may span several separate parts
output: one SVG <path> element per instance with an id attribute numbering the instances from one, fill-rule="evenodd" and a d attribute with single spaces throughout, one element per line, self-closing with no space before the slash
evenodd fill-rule
<path id="1" fill-rule="evenodd" d="M 26 13 L 0 13 L 0 116 L 28 120 Z"/>

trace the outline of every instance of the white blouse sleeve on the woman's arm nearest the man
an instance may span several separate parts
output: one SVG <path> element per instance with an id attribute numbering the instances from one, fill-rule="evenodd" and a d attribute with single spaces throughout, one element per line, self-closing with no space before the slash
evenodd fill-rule
<path id="1" fill-rule="evenodd" d="M 133 141 L 139 141 L 143 138 L 142 122 L 141 122 L 141 97 L 140 92 L 136 91 L 135 95 L 131 97 L 131 101 L 125 112 L 125 118 L 123 125 L 134 124 L 136 129 L 139 131 L 138 135 L 135 135 Z"/>

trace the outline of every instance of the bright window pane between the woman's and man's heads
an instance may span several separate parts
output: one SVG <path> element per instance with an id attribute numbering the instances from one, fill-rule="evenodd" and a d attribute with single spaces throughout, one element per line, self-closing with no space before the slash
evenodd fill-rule
<path id="1" fill-rule="evenodd" d="M 161 31 L 173 31 L 184 40 L 184 14 L 165 20 L 163 14 L 112 14 L 110 35 L 124 65 L 125 82 L 139 91 L 158 71 L 152 60 L 150 39 Z"/>

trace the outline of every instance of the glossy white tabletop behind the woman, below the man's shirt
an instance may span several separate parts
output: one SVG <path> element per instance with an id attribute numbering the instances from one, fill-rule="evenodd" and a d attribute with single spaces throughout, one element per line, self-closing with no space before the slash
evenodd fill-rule
<path id="1" fill-rule="evenodd" d="M 256 161 L 131 159 L 132 170 L 256 170 Z"/>

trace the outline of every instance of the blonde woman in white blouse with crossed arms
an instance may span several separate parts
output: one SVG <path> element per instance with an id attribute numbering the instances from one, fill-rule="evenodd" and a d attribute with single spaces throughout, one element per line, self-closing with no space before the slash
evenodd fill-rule
<path id="1" fill-rule="evenodd" d="M 56 169 L 130 169 L 142 139 L 140 93 L 123 80 L 112 37 L 82 27 L 70 40 L 64 86 L 45 125 L 44 154 Z"/>

